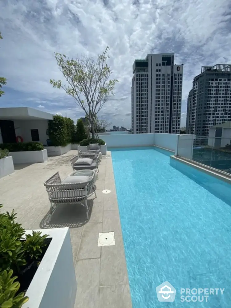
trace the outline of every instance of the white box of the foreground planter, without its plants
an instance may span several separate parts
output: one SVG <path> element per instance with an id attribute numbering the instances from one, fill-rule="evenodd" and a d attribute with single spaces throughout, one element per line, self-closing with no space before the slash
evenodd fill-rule
<path id="1" fill-rule="evenodd" d="M 68 228 L 43 229 L 51 243 L 32 279 L 22 308 L 73 308 L 77 283 Z M 32 233 L 31 230 L 26 233 Z"/>

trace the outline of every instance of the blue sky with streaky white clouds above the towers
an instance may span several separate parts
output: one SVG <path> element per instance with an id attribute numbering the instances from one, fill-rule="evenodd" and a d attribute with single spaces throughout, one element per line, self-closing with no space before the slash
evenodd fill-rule
<path id="1" fill-rule="evenodd" d="M 181 127 L 188 91 L 202 65 L 231 63 L 230 0 L 2 0 L 0 75 L 7 78 L 0 107 L 29 106 L 76 120 L 81 109 L 49 80 L 60 79 L 54 52 L 97 56 L 110 47 L 119 80 L 102 116 L 131 126 L 135 58 L 175 53 L 184 63 Z"/>

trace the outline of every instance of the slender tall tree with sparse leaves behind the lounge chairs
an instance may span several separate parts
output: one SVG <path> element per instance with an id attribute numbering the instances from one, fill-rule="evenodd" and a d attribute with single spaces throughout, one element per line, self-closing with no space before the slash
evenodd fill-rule
<path id="1" fill-rule="evenodd" d="M 51 79 L 50 83 L 54 88 L 63 88 L 67 95 L 71 95 L 75 102 L 85 111 L 89 125 L 91 126 L 92 137 L 97 137 L 95 116 L 107 102 L 110 95 L 114 95 L 113 89 L 117 79 L 110 79 L 112 71 L 107 65 L 107 54 L 109 47 L 96 61 L 87 56 L 76 59 L 66 58 L 66 55 L 55 53 L 59 70 L 63 73 L 67 85 L 61 80 Z"/>

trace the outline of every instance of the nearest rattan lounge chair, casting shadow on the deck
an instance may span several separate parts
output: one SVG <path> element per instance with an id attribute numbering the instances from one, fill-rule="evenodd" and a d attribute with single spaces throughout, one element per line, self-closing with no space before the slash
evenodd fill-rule
<path id="1" fill-rule="evenodd" d="M 87 197 L 95 193 L 94 181 L 96 170 L 92 176 L 68 176 L 61 181 L 59 172 L 56 172 L 48 180 L 44 182 L 51 204 L 50 214 L 52 214 L 55 206 L 60 204 L 81 204 L 86 207 L 88 219 Z M 95 193 L 96 197 L 96 193 Z"/>

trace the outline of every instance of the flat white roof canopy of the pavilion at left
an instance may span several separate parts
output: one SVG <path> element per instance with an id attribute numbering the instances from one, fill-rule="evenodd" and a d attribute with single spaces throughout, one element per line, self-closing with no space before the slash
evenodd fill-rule
<path id="1" fill-rule="evenodd" d="M 0 108 L 0 120 L 53 120 L 53 115 L 30 107 Z"/>

